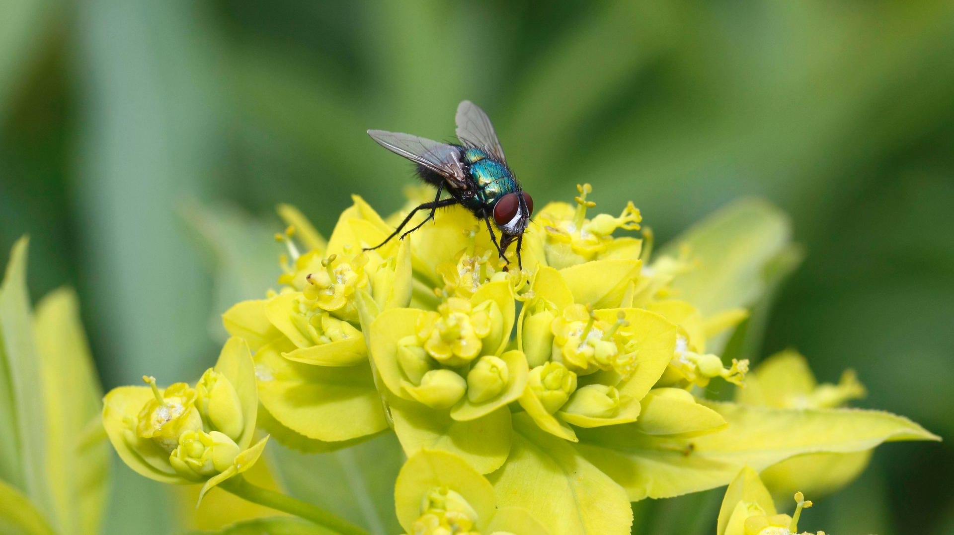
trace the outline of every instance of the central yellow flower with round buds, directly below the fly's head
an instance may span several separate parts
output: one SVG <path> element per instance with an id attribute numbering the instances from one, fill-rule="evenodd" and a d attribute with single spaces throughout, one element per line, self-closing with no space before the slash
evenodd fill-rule
<path id="1" fill-rule="evenodd" d="M 469 299 L 447 298 L 439 309 L 383 311 L 369 331 L 371 359 L 408 455 L 447 427 L 475 430 L 494 443 L 493 455 L 487 443 L 446 445 L 486 473 L 507 456 L 507 405 L 524 392 L 529 375 L 523 352 L 506 351 L 516 314 L 512 286 L 485 282 Z"/>

